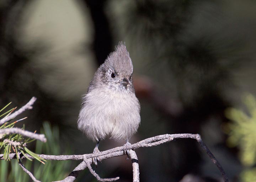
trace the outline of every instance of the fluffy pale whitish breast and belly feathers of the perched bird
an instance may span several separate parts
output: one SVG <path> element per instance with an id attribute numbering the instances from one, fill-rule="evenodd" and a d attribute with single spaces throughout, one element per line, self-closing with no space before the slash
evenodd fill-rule
<path id="1" fill-rule="evenodd" d="M 108 135 L 116 141 L 129 139 L 139 127 L 140 107 L 135 94 L 126 92 L 95 89 L 87 93 L 79 114 L 79 129 L 94 141 L 103 140 Z M 124 102 L 127 100 L 133 102 Z"/>

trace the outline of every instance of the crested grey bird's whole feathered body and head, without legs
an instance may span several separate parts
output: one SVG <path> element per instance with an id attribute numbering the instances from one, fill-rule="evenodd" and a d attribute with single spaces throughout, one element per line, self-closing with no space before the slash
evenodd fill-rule
<path id="1" fill-rule="evenodd" d="M 110 137 L 129 140 L 140 124 L 140 104 L 135 96 L 133 64 L 120 42 L 97 69 L 82 97 L 78 129 L 93 141 Z"/>

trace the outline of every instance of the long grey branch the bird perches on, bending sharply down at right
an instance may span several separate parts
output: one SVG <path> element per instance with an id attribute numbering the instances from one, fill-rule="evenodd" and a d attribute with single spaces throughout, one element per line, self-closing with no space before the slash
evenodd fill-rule
<path id="1" fill-rule="evenodd" d="M 92 157 L 98 157 L 99 160 L 104 160 L 112 157 L 117 157 L 124 155 L 123 150 L 129 150 L 129 149 L 137 149 L 140 147 L 152 147 L 156 146 L 162 143 L 170 142 L 177 138 L 192 138 L 194 140 L 197 140 L 197 142 L 200 144 L 200 146 L 206 151 L 207 155 L 210 157 L 210 159 L 213 161 L 213 163 L 218 167 L 220 170 L 224 181 L 228 182 L 228 177 L 225 174 L 225 171 L 223 167 L 220 165 L 218 160 L 214 157 L 214 155 L 210 152 L 210 150 L 207 148 L 206 144 L 203 143 L 202 138 L 198 134 L 190 134 L 190 133 L 183 133 L 183 134 L 166 134 L 166 135 L 159 135 L 151 138 L 146 138 L 145 140 L 142 140 L 140 142 L 131 144 L 129 146 L 122 146 L 122 147 L 116 147 L 109 150 L 102 151 L 100 153 L 95 154 L 84 154 L 84 155 L 44 155 L 41 154 L 39 157 L 46 160 L 83 160 L 84 156 L 90 160 Z M 16 154 L 9 154 L 10 159 L 15 159 Z M 29 158 L 33 158 L 30 155 L 28 155 Z M 22 157 L 24 158 L 24 157 Z M 3 154 L 0 154 L 0 159 L 3 159 Z M 91 164 L 90 160 L 90 164 Z M 80 163 L 83 164 L 83 163 Z M 73 180 L 74 181 L 74 180 Z"/>

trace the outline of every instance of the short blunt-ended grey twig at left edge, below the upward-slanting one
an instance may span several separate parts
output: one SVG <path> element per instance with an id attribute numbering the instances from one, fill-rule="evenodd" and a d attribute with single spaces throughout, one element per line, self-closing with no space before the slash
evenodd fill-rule
<path id="1" fill-rule="evenodd" d="M 18 133 L 26 137 L 34 138 L 36 140 L 40 140 L 42 142 L 46 142 L 46 137 L 44 134 L 37 134 L 30 131 L 22 130 L 20 128 L 6 128 L 0 129 L 0 134 L 10 134 L 10 133 Z M 1 137 L 0 137 L 1 138 Z"/>

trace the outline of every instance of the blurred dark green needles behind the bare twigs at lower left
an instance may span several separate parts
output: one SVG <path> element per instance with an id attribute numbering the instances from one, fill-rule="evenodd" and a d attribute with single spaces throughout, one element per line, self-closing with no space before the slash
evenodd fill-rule
<path id="1" fill-rule="evenodd" d="M 37 141 L 36 153 L 60 155 L 61 149 L 58 127 L 51 127 L 48 122 L 44 122 L 41 133 L 46 135 L 47 143 Z M 32 162 L 26 159 L 22 162 L 25 167 L 42 182 L 62 180 L 71 170 L 69 169 L 71 161 L 47 161 L 45 165 L 38 161 Z M 11 162 L 2 160 L 0 161 L 0 181 L 24 182 L 30 181 L 30 177 L 25 174 L 16 160 L 11 160 Z"/>

